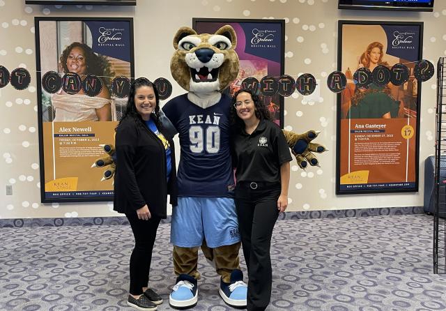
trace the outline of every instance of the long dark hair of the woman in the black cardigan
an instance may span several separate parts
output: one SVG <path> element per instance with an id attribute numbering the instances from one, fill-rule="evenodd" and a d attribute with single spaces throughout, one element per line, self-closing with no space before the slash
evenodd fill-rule
<path id="1" fill-rule="evenodd" d="M 156 100 L 156 107 L 152 112 L 151 119 L 153 122 L 155 122 L 156 127 L 158 130 L 161 130 L 162 123 L 160 118 L 160 95 L 158 94 L 158 90 L 153 84 L 153 82 L 149 81 L 145 77 L 140 77 L 132 82 L 130 85 L 130 92 L 128 93 L 128 102 L 127 106 L 125 107 L 125 111 L 123 113 L 123 117 L 121 121 L 118 124 L 118 127 L 121 125 L 121 122 L 125 118 L 132 117 L 137 121 L 137 124 L 144 125 L 144 120 L 141 117 L 141 114 L 139 114 L 137 107 L 134 105 L 134 95 L 137 93 L 137 89 L 139 89 L 141 86 L 149 86 L 153 89 L 153 92 L 155 93 L 155 100 Z"/>

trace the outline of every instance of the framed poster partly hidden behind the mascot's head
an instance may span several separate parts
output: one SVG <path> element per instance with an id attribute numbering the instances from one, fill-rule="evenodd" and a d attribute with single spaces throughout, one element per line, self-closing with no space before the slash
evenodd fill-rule
<path id="1" fill-rule="evenodd" d="M 229 96 L 242 87 L 242 82 L 247 77 L 254 77 L 260 82 L 263 77 L 272 76 L 279 79 L 284 74 L 284 20 L 192 19 L 192 26 L 197 33 L 214 33 L 226 24 L 236 31 L 236 52 L 240 59 L 238 76 L 226 90 Z M 284 98 L 277 92 L 273 96 L 260 97 L 268 107 L 272 119 L 283 128 Z"/>

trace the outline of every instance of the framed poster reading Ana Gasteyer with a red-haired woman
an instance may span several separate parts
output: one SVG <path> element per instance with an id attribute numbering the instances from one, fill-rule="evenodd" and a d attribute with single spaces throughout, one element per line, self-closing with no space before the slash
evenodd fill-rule
<path id="1" fill-rule="evenodd" d="M 337 195 L 418 191 L 422 22 L 339 21 Z M 388 76 L 387 76 L 388 75 Z M 365 78 L 364 78 L 365 77 Z"/>

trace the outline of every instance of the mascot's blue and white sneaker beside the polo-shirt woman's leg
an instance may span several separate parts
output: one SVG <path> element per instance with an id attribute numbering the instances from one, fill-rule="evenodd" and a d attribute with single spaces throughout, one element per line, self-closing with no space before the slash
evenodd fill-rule
<path id="1" fill-rule="evenodd" d="M 243 272 L 236 269 L 231 273 L 231 282 L 220 280 L 218 294 L 231 307 L 246 307 L 248 286 L 243 282 Z"/>

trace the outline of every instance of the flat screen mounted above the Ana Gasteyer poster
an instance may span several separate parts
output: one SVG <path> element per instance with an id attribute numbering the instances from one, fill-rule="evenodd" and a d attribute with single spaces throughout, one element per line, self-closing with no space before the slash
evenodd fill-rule
<path id="1" fill-rule="evenodd" d="M 338 8 L 433 11 L 433 0 L 339 0 Z"/>

